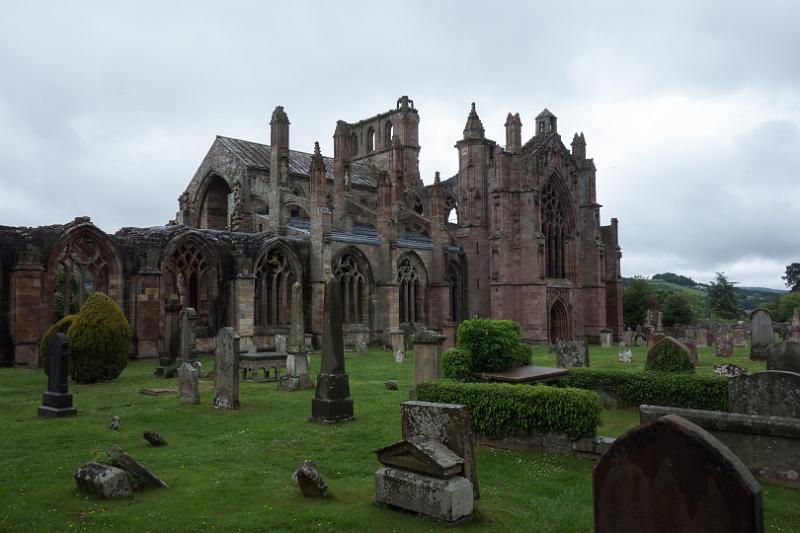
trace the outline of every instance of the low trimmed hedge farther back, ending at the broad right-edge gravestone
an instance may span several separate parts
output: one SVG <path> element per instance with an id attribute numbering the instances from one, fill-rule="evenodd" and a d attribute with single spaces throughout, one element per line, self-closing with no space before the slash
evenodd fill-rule
<path id="1" fill-rule="evenodd" d="M 627 407 L 663 405 L 708 411 L 728 410 L 728 378 L 645 370 L 570 368 L 567 387 L 604 389 Z"/>

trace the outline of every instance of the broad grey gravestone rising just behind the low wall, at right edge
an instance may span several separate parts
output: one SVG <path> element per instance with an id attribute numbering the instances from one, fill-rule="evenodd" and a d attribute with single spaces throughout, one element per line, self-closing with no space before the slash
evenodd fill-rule
<path id="1" fill-rule="evenodd" d="M 732 378 L 728 382 L 728 410 L 800 418 L 800 374 L 767 370 Z"/>

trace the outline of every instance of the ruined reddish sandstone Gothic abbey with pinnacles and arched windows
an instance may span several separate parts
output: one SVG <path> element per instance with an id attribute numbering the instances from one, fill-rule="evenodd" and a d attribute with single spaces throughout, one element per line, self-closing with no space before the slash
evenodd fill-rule
<path id="1" fill-rule="evenodd" d="M 201 349 L 222 326 L 268 348 L 288 332 L 295 281 L 306 332 L 319 336 L 327 276 L 342 283 L 349 343 L 422 326 L 452 339 L 476 315 L 514 319 L 532 342 L 621 335 L 617 220 L 600 225 L 583 134 L 569 150 L 545 109 L 523 144 L 509 113 L 502 146 L 473 104 L 455 144 L 458 173 L 426 186 L 418 127 L 404 96 L 384 113 L 338 121 L 330 158 L 318 146 L 291 149 L 277 107 L 269 144 L 214 140 L 166 226 L 108 235 L 82 217 L 0 227 L 0 361 L 34 365 L 54 316 L 87 290 L 120 304 L 138 357 L 165 349 L 165 317 L 183 306 L 197 310 Z M 59 272 L 77 288 L 57 291 Z"/>

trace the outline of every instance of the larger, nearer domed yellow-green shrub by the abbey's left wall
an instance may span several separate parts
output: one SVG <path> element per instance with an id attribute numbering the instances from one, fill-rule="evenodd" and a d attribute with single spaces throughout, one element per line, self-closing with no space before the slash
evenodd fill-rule
<path id="1" fill-rule="evenodd" d="M 67 342 L 73 381 L 108 381 L 116 379 L 128 364 L 131 327 L 116 302 L 96 292 L 67 331 Z"/>

